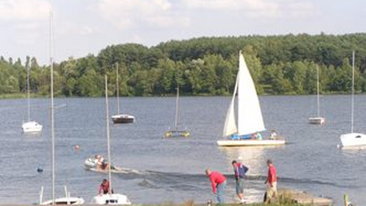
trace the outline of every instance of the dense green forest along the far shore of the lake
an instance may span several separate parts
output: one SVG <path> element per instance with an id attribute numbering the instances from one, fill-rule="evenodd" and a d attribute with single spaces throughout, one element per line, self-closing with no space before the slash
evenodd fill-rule
<path id="1" fill-rule="evenodd" d="M 317 67 L 321 93 L 349 93 L 352 51 L 355 51 L 355 91 L 366 91 L 366 34 L 248 35 L 201 37 L 167 41 L 156 46 L 109 45 L 97 56 L 68 58 L 54 63 L 55 96 L 100 97 L 104 74 L 116 91 L 116 63 L 122 96 L 229 95 L 242 50 L 259 94 L 315 94 Z M 27 91 L 27 68 L 33 95 L 50 93 L 50 66 L 36 57 L 0 58 L 0 95 Z"/>

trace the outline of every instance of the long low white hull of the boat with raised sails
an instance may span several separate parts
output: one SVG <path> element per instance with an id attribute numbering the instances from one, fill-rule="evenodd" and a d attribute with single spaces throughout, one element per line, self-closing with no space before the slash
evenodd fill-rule
<path id="1" fill-rule="evenodd" d="M 266 145 L 284 145 L 284 139 L 243 139 L 243 140 L 219 140 L 219 146 L 266 146 Z"/>

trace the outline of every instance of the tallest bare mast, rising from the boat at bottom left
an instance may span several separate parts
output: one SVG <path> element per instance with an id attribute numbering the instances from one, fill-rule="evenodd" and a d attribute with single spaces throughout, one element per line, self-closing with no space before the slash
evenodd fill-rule
<path id="1" fill-rule="evenodd" d="M 55 204 L 55 131 L 53 119 L 53 13 L 50 12 L 49 39 L 50 39 L 50 67 L 51 67 L 51 145 L 52 145 L 52 205 Z"/>

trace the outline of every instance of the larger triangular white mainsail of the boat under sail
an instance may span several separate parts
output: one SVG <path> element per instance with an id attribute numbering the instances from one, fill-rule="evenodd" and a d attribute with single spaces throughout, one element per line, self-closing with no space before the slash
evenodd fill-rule
<path id="1" fill-rule="evenodd" d="M 246 135 L 266 130 L 257 91 L 241 52 L 238 80 L 238 134 Z"/>

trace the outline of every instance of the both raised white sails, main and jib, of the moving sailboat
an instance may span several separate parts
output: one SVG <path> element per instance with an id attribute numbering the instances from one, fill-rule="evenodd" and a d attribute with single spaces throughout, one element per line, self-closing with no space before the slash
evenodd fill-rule
<path id="1" fill-rule="evenodd" d="M 238 127 L 235 124 L 234 102 L 238 93 Z M 257 91 L 242 53 L 239 53 L 239 71 L 236 77 L 234 94 L 227 112 L 223 136 L 237 133 L 247 135 L 264 131 L 264 122 Z"/>

